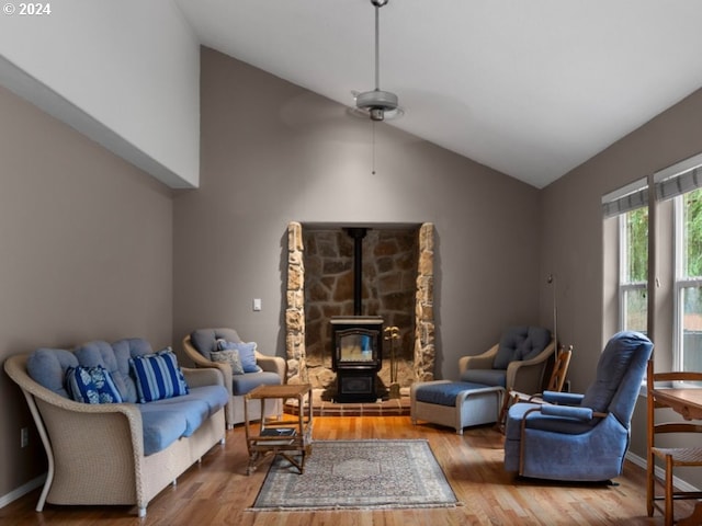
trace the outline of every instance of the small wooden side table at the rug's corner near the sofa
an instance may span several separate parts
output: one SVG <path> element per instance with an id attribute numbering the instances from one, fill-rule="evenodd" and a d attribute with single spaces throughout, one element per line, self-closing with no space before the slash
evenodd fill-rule
<path id="1" fill-rule="evenodd" d="M 295 419 L 273 419 L 265 415 L 267 400 L 297 399 Z M 305 400 L 306 399 L 306 400 Z M 261 420 L 257 424 L 249 420 L 249 401 L 261 401 Z M 271 455 L 282 455 L 301 473 L 305 470 L 305 457 L 312 454 L 313 407 L 312 386 L 293 384 L 259 386 L 244 397 L 244 422 L 246 444 L 249 450 L 247 474 L 251 474 Z M 258 428 L 257 428 L 258 427 Z"/>

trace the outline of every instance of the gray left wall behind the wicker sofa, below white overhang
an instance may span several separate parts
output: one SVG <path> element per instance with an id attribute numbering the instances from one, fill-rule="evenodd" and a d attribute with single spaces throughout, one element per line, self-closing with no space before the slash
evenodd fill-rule
<path id="1" fill-rule="evenodd" d="M 170 344 L 172 195 L 0 89 L 0 362 L 38 346 Z M 46 470 L 19 388 L 0 374 L 0 496 Z"/>

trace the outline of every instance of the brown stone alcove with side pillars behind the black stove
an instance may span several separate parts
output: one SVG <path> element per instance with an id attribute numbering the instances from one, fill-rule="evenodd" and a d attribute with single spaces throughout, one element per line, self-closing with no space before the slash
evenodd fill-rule
<path id="1" fill-rule="evenodd" d="M 353 240 L 341 227 L 287 228 L 287 381 L 333 389 L 332 316 L 353 313 Z M 433 225 L 415 228 L 370 226 L 364 240 L 363 315 L 382 316 L 397 327 L 397 384 L 433 379 Z M 384 342 L 380 380 L 389 386 L 389 341 Z"/>

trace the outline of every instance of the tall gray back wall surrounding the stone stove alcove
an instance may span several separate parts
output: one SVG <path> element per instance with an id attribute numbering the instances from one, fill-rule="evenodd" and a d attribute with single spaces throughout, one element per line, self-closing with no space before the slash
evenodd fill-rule
<path id="1" fill-rule="evenodd" d="M 284 356 L 293 220 L 434 222 L 441 377 L 537 321 L 535 188 L 384 124 L 372 174 L 370 121 L 214 50 L 201 62 L 201 188 L 174 199 L 174 341 L 234 327 Z"/>

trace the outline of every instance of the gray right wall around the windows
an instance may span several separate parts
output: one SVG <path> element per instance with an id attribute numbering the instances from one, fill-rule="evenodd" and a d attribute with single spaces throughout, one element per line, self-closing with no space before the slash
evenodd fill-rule
<path id="1" fill-rule="evenodd" d="M 557 275 L 558 336 L 575 346 L 569 378 L 575 391 L 592 380 L 599 353 L 612 335 L 603 333 L 602 195 L 702 151 L 702 90 L 661 113 L 541 192 L 542 273 Z M 659 232 L 665 235 L 665 232 Z M 611 268 L 608 268 L 611 272 Z M 544 284 L 542 320 L 551 318 Z M 670 308 L 659 309 L 670 317 Z M 656 363 L 669 365 L 670 343 L 660 331 Z M 632 451 L 645 458 L 646 400 L 633 422 Z M 695 483 L 693 481 L 693 483 Z M 702 479 L 697 481 L 702 487 Z"/>

